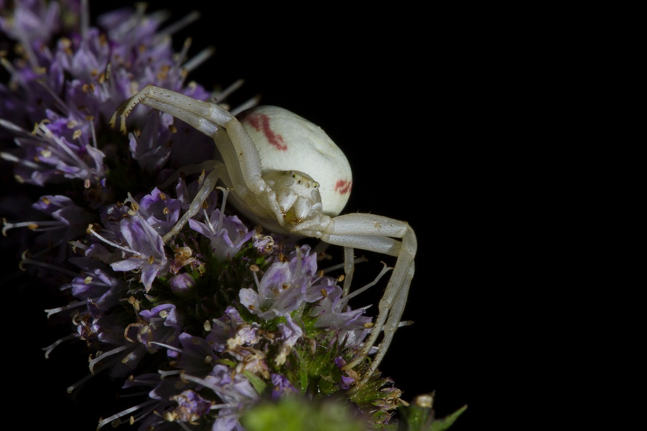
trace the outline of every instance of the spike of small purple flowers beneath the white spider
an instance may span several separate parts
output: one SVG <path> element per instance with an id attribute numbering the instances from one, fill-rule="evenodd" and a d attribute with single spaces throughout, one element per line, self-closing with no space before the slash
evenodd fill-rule
<path id="1" fill-rule="evenodd" d="M 100 426 L 234 430 L 264 397 L 351 388 L 357 376 L 341 367 L 371 319 L 367 307 L 349 309 L 309 246 L 227 216 L 226 191 L 220 205 L 212 192 L 179 235 L 162 241 L 199 188 L 199 179 L 166 180 L 210 159 L 214 144 L 147 108 L 131 114 L 137 133 L 128 142 L 106 119 L 147 84 L 201 100 L 214 94 L 184 83 L 186 59 L 160 32 L 159 15 L 116 10 L 89 27 L 83 5 L 0 1 L 0 30 L 20 47 L 0 59 L 10 74 L 0 83 L 0 158 L 17 182 L 59 191 L 24 208 L 6 195 L 15 214 L 41 216 L 5 221 L 3 234 L 35 251 L 23 267 L 58 273 L 54 284 L 72 298 L 46 310 L 69 313 L 72 327 L 46 356 L 68 340 L 94 346 L 88 377 L 69 391 L 107 370 L 126 378 L 125 391 L 145 395 Z M 188 142 L 192 151 L 179 151 Z M 158 188 L 164 181 L 170 186 Z"/>

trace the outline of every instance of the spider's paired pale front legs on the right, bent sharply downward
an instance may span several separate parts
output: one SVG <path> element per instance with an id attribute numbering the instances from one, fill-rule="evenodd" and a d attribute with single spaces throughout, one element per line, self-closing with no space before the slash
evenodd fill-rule
<path id="1" fill-rule="evenodd" d="M 400 326 L 411 279 L 415 272 L 413 259 L 417 250 L 417 239 L 408 223 L 373 214 L 345 214 L 334 217 L 331 219 L 331 223 L 325 227 L 320 238 L 330 244 L 397 256 L 393 273 L 378 305 L 378 316 L 371 335 L 364 343 L 360 355 L 344 366 L 345 370 L 350 370 L 362 362 L 371 348 L 375 346 L 380 332 L 384 332 L 384 337 L 375 357 L 373 357 L 369 371 L 360 382 L 361 386 L 377 370 L 393 340 L 396 329 Z M 401 241 L 395 238 L 399 238 Z M 347 255 L 346 259 L 348 258 Z"/>

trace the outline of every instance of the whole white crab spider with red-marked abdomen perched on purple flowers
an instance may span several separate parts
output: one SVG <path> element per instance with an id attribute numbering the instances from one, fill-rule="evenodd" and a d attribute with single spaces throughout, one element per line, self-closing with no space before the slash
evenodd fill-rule
<path id="1" fill-rule="evenodd" d="M 212 172 L 204 179 L 189 210 L 164 236 L 164 243 L 197 214 L 220 180 L 231 189 L 228 199 L 263 227 L 344 247 L 344 294 L 348 293 L 353 274 L 353 249 L 397 256 L 371 335 L 360 355 L 345 365 L 350 370 L 364 360 L 384 331 L 369 371 L 360 382 L 364 384 L 384 358 L 406 304 L 417 249 L 408 223 L 374 214 L 338 216 L 351 188 L 348 161 L 320 127 L 285 109 L 255 107 L 245 111 L 239 120 L 217 104 L 147 85 L 116 109 L 111 126 L 120 116 L 122 132 L 126 133 L 126 117 L 140 103 L 173 115 L 214 138 L 222 159 L 213 161 Z"/>

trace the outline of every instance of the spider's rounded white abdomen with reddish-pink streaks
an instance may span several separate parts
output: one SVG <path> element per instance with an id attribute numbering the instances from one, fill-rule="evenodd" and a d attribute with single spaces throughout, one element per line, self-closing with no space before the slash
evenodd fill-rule
<path id="1" fill-rule="evenodd" d="M 263 177 L 276 171 L 307 172 L 320 184 L 323 214 L 334 217 L 342 212 L 353 184 L 351 166 L 321 127 L 276 106 L 248 109 L 238 119 L 258 148 Z"/>

